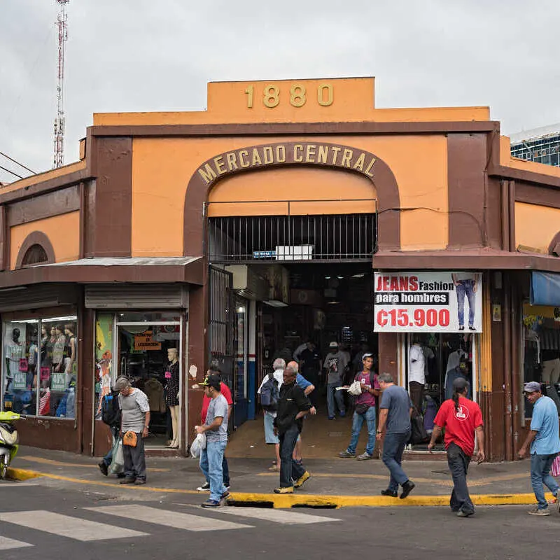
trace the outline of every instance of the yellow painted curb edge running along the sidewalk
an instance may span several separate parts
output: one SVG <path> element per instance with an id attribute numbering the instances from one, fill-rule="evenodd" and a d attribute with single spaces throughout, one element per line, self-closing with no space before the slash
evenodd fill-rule
<path id="1" fill-rule="evenodd" d="M 181 488 L 159 488 L 157 486 L 134 486 L 132 484 L 119 485 L 114 482 L 102 482 L 99 480 L 88 480 L 62 475 L 52 475 L 49 472 L 38 472 L 22 468 L 8 469 L 8 477 L 15 480 L 29 480 L 31 478 L 45 477 L 76 484 L 91 484 L 92 486 L 109 486 L 110 488 L 123 489 L 127 491 L 148 491 L 159 493 L 181 493 L 200 495 L 196 490 Z M 552 494 L 547 494 L 547 500 L 552 499 Z M 535 496 L 532 493 L 524 494 L 474 494 L 470 496 L 472 503 L 476 505 L 534 505 Z M 388 496 L 341 496 L 339 494 L 275 494 L 275 493 L 253 493 L 232 492 L 230 500 L 232 503 L 251 505 L 272 503 L 272 507 L 395 507 L 395 506 L 449 506 L 449 496 L 409 496 L 405 500 L 400 498 L 389 498 Z"/>

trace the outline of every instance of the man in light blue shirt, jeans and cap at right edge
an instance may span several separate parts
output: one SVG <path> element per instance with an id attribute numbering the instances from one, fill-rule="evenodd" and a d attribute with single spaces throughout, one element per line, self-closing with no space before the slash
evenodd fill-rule
<path id="1" fill-rule="evenodd" d="M 542 484 L 556 496 L 557 507 L 560 507 L 559 486 L 550 474 L 550 468 L 556 455 L 560 453 L 560 437 L 558 435 L 558 409 L 554 400 L 542 395 L 540 383 L 530 381 L 523 391 L 526 399 L 533 405 L 531 429 L 526 440 L 518 451 L 519 458 L 524 458 L 531 446 L 531 484 L 537 506 L 527 513 L 530 515 L 550 515 L 545 489 Z"/>

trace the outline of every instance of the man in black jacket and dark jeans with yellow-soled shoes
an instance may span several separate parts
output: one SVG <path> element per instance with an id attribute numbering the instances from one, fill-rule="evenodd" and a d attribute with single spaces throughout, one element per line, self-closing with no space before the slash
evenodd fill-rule
<path id="1" fill-rule="evenodd" d="M 274 431 L 280 440 L 280 486 L 274 489 L 277 494 L 293 493 L 294 488 L 303 486 L 311 476 L 300 463 L 292 459 L 303 418 L 311 408 L 311 402 L 303 389 L 295 383 L 296 373 L 290 366 L 283 372 L 284 382 L 280 388 L 278 413 L 274 419 Z"/>

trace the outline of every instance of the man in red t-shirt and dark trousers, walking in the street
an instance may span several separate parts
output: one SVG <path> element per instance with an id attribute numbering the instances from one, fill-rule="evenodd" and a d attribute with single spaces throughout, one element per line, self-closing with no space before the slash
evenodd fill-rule
<path id="1" fill-rule="evenodd" d="M 475 435 L 477 440 L 477 462 L 484 461 L 484 432 L 482 431 L 482 412 L 476 402 L 466 398 L 468 381 L 458 377 L 453 381 L 453 397 L 444 401 L 434 420 L 432 439 L 428 444 L 431 451 L 435 441 L 445 428 L 445 449 L 447 464 L 453 478 L 451 492 L 451 511 L 457 517 L 469 517 L 474 514 L 467 487 L 467 471 L 470 458 L 475 452 Z"/>

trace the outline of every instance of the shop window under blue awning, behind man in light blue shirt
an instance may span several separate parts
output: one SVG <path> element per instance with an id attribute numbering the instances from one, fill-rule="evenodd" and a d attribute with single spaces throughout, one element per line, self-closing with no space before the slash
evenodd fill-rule
<path id="1" fill-rule="evenodd" d="M 560 307 L 523 305 L 522 349 L 524 383 L 538 381 L 560 414 Z M 531 418 L 533 405 L 524 401 L 525 416 Z"/>

